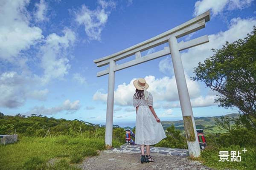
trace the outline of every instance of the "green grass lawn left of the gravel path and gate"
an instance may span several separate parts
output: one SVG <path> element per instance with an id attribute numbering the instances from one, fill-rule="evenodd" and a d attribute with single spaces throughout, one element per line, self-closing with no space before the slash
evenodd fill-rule
<path id="1" fill-rule="evenodd" d="M 113 140 L 113 147 L 121 143 Z M 25 137 L 19 136 L 15 144 L 0 145 L 1 170 L 54 170 L 56 165 L 47 165 L 50 159 L 64 170 L 79 170 L 85 156 L 96 156 L 97 150 L 104 150 L 103 138 L 81 138 L 70 136 Z M 57 168 L 61 170 L 61 168 Z"/>

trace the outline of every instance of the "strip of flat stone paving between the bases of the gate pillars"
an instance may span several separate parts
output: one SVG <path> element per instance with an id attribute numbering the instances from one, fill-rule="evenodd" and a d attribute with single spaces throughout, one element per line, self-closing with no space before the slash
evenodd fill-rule
<path id="1" fill-rule="evenodd" d="M 140 145 L 137 144 L 123 144 L 120 148 L 111 148 L 113 152 L 122 153 L 140 153 Z M 189 156 L 187 149 L 169 148 L 169 147 L 150 147 L 151 153 L 160 153 L 164 155 L 175 155 L 175 156 Z"/>

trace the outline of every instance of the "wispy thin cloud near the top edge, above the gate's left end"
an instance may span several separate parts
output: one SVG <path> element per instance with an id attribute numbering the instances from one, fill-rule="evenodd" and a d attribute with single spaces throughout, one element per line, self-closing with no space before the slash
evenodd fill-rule
<path id="1" fill-rule="evenodd" d="M 87 6 L 76 11 L 76 22 L 84 26 L 85 33 L 90 40 L 100 40 L 102 29 L 108 21 L 111 10 L 116 7 L 113 1 L 97 1 L 99 6 L 95 10 L 90 10 Z"/>

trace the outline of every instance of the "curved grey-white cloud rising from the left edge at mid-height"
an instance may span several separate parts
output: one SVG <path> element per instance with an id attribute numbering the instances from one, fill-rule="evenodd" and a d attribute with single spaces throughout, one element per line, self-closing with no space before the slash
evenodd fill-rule
<path id="1" fill-rule="evenodd" d="M 41 46 L 41 63 L 38 65 L 44 69 L 43 76 L 26 70 L 6 71 L 0 75 L 0 106 L 17 108 L 24 105 L 26 99 L 47 99 L 48 90 L 37 88 L 46 85 L 51 79 L 63 78 L 70 68 L 66 50 L 75 41 L 75 34 L 67 28 L 63 32 L 63 36 L 50 34 Z M 26 65 L 26 60 L 24 62 Z"/>

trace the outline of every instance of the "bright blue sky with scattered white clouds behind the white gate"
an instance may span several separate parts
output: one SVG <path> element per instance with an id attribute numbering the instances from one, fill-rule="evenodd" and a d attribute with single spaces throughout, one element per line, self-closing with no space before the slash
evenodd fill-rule
<path id="1" fill-rule="evenodd" d="M 93 59 L 105 57 L 210 10 L 209 43 L 181 52 L 194 116 L 238 113 L 219 108 L 216 94 L 193 82 L 193 68 L 226 41 L 246 37 L 256 25 L 254 0 L 1 0 L 0 111 L 105 122 L 108 75 L 96 77 Z M 163 49 L 167 44 L 144 51 Z M 130 60 L 124 59 L 122 63 Z M 132 82 L 143 77 L 162 120 L 181 119 L 170 56 L 116 72 L 114 122 L 134 121 Z"/>

